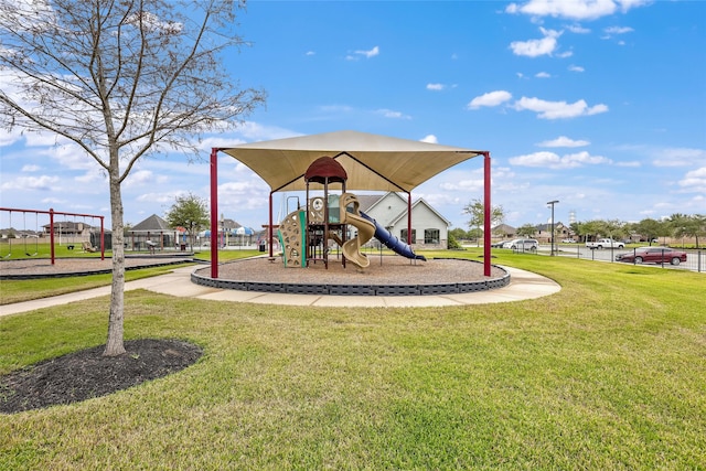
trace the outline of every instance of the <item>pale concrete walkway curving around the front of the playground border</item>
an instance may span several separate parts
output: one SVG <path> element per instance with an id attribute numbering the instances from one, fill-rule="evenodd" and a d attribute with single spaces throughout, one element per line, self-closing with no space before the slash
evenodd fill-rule
<path id="1" fill-rule="evenodd" d="M 366 308 L 403 308 L 432 306 L 483 304 L 490 302 L 521 301 L 541 298 L 558 292 L 561 287 L 543 276 L 503 267 L 510 272 L 510 285 L 490 291 L 469 292 L 461 295 L 438 296 L 321 296 L 321 295 L 288 295 L 274 292 L 236 291 L 231 289 L 208 288 L 191 282 L 193 267 L 176 268 L 174 271 L 152 278 L 129 281 L 126 291 L 147 289 L 153 292 L 175 296 L 180 298 L 197 298 L 215 301 L 252 302 L 258 304 L 318 306 L 318 307 L 366 307 Z M 0 306 L 0 317 L 34 311 L 51 306 L 67 304 L 85 299 L 109 296 L 110 287 L 88 289 L 68 295 L 36 299 Z"/>

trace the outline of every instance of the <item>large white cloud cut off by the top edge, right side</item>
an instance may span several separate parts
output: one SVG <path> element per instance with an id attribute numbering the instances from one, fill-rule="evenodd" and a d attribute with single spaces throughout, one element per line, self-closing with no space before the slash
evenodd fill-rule
<path id="1" fill-rule="evenodd" d="M 507 13 L 523 13 L 532 17 L 554 17 L 569 20 L 597 20 L 618 10 L 627 12 L 642 7 L 650 0 L 530 0 L 522 4 L 511 3 Z"/>

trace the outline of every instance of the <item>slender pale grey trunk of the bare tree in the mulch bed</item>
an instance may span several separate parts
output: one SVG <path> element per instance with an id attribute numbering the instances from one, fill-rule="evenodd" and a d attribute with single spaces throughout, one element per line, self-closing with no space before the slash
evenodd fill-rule
<path id="1" fill-rule="evenodd" d="M 116 172 L 117 173 L 117 172 Z M 110 315 L 108 318 L 108 341 L 104 356 L 125 353 L 125 244 L 122 235 L 122 195 L 118 175 L 110 174 L 110 217 L 113 221 L 113 285 L 110 290 Z"/>

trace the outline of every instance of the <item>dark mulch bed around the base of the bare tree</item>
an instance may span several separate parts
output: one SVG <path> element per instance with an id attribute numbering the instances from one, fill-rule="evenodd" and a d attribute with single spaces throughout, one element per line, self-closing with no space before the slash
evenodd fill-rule
<path id="1" fill-rule="evenodd" d="M 106 396 L 179 372 L 201 347 L 179 340 L 125 342 L 126 353 L 103 356 L 105 345 L 69 353 L 0 376 L 0 414 L 66 405 Z"/>

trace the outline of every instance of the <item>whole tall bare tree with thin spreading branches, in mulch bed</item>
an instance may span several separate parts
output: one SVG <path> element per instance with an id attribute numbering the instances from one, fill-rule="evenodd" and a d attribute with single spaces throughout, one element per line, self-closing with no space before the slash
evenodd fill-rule
<path id="1" fill-rule="evenodd" d="M 104 355 L 124 347 L 125 251 L 120 188 L 136 162 L 239 122 L 265 100 L 239 89 L 223 53 L 245 1 L 0 0 L 0 126 L 51 131 L 107 174 L 113 287 Z"/>

